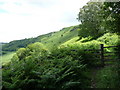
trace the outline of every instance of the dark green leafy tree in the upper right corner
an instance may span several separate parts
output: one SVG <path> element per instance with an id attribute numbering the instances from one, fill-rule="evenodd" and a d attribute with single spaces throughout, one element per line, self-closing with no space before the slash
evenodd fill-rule
<path id="1" fill-rule="evenodd" d="M 108 30 L 120 34 L 120 1 L 105 2 L 104 15 Z"/>

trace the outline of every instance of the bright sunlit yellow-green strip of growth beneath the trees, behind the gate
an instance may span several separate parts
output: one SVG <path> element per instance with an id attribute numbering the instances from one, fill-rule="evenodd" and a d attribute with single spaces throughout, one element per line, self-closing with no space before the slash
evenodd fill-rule
<path id="1" fill-rule="evenodd" d="M 82 38 L 79 40 L 79 37 L 76 36 L 76 37 L 73 37 L 72 39 L 66 41 L 65 43 L 63 43 L 61 45 L 84 44 L 84 43 L 90 43 L 92 41 L 96 41 L 96 42 L 99 42 L 101 44 L 105 44 L 105 46 L 112 46 L 112 45 L 117 44 L 118 35 L 115 33 L 106 33 L 103 36 L 97 38 L 96 40 L 89 40 L 89 37 Z"/>

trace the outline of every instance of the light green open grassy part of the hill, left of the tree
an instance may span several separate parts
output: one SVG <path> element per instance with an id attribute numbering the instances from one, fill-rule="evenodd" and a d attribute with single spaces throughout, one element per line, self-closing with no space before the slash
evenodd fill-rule
<path id="1" fill-rule="evenodd" d="M 78 31 L 74 30 L 74 26 L 64 28 L 58 32 L 53 33 L 49 37 L 44 37 L 41 39 L 41 43 L 43 43 L 47 48 L 52 48 L 53 46 L 59 46 L 66 41 L 71 40 L 74 37 L 77 37 Z"/>

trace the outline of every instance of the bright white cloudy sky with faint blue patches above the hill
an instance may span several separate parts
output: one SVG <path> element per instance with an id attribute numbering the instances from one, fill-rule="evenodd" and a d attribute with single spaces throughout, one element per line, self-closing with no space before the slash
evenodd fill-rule
<path id="1" fill-rule="evenodd" d="M 80 24 L 89 0 L 0 0 L 0 42 L 37 37 Z"/>

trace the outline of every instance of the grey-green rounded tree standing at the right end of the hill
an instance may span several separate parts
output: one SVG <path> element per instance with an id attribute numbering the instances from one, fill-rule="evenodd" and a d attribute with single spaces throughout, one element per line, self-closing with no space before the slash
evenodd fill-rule
<path id="1" fill-rule="evenodd" d="M 83 8 L 80 9 L 78 20 L 81 21 L 79 31 L 80 36 L 97 37 L 100 36 L 102 31 L 103 21 L 103 3 L 88 2 Z"/>

